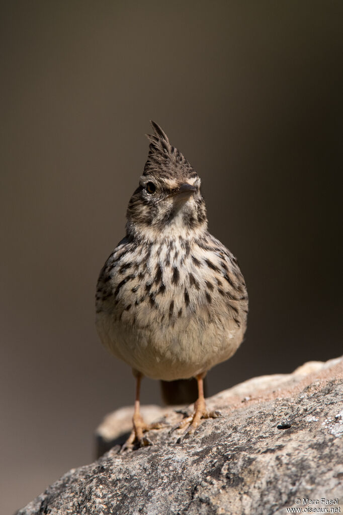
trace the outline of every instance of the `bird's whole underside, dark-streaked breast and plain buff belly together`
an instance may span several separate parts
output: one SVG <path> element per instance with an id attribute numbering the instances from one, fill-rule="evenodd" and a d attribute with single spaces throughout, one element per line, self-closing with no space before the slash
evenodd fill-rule
<path id="1" fill-rule="evenodd" d="M 135 259 L 127 252 L 113 276 L 110 262 L 98 290 L 103 344 L 153 379 L 207 371 L 228 359 L 244 336 L 247 296 L 239 269 L 225 248 L 188 247 L 176 240 L 151 244 L 149 256 L 145 248 L 139 253 L 141 261 L 136 251 Z"/>

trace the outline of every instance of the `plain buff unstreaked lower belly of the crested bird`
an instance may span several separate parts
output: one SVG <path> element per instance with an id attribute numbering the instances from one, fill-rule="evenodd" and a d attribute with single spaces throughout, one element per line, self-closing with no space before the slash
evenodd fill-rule
<path id="1" fill-rule="evenodd" d="M 228 317 L 205 321 L 198 315 L 173 323 L 123 324 L 110 314 L 97 319 L 100 338 L 116 357 L 152 379 L 187 379 L 228 359 L 244 336 Z"/>

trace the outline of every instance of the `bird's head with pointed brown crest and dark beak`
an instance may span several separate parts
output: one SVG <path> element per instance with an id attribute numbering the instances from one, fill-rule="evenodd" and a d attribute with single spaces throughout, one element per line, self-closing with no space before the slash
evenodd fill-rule
<path id="1" fill-rule="evenodd" d="M 127 232 L 150 241 L 207 229 L 200 177 L 165 132 L 151 122 L 149 156 L 127 211 Z"/>

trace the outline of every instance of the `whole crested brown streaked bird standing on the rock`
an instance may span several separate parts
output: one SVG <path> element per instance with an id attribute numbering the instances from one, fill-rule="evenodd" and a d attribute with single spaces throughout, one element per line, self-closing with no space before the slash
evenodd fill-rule
<path id="1" fill-rule="evenodd" d="M 208 231 L 201 179 L 167 134 L 151 121 L 149 153 L 127 209 L 126 234 L 102 267 L 96 287 L 96 328 L 136 380 L 133 430 L 124 448 L 150 445 L 140 414 L 143 376 L 194 377 L 194 412 L 178 427 L 191 435 L 215 418 L 204 377 L 240 346 L 248 296 L 237 259 Z"/>

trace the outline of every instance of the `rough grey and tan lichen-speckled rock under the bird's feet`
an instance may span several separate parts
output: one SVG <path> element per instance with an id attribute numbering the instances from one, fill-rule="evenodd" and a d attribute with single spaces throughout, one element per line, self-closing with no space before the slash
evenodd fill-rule
<path id="1" fill-rule="evenodd" d="M 67 472 L 17 515 L 283 515 L 286 507 L 313 506 L 311 500 L 318 512 L 338 513 L 342 394 L 343 357 L 256 377 L 208 399 L 222 417 L 205 420 L 194 435 L 179 441 L 164 428 L 149 433 L 152 447 L 119 454 L 116 445 Z M 170 425 L 190 411 L 149 409 Z M 105 419 L 97 432 L 103 448 L 129 430 L 131 413 L 124 408 Z"/>

